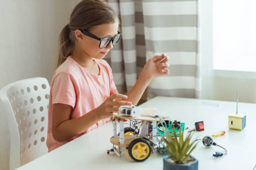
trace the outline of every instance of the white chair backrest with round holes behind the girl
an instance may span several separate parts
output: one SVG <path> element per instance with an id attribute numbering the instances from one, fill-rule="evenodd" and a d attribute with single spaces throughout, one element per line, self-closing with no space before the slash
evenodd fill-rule
<path id="1" fill-rule="evenodd" d="M 49 83 L 42 77 L 13 82 L 0 90 L 10 130 L 10 170 L 48 153 L 49 92 Z"/>

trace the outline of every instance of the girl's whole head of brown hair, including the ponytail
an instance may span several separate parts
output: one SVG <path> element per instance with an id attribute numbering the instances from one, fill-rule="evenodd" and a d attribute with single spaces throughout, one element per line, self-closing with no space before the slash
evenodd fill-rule
<path id="1" fill-rule="evenodd" d="M 59 35 L 59 58 L 57 67 L 72 55 L 75 46 L 75 30 L 90 30 L 101 24 L 118 21 L 115 11 L 104 0 L 82 0 L 74 7 L 69 23 Z"/>

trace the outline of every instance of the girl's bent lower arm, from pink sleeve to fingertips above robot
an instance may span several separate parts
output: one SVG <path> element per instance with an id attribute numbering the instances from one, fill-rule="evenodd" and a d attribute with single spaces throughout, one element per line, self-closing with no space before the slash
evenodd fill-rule
<path id="1" fill-rule="evenodd" d="M 125 95 L 109 96 L 99 107 L 76 119 L 70 119 L 72 106 L 62 103 L 54 104 L 52 114 L 53 138 L 62 142 L 79 135 L 99 120 L 111 117 L 113 112 L 118 112 L 120 105 L 131 105 L 131 102 L 124 100 L 127 100 Z"/>

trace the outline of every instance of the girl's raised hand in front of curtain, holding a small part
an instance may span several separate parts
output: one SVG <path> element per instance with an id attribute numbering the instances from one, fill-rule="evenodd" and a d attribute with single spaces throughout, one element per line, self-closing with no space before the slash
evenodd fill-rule
<path id="1" fill-rule="evenodd" d="M 165 60 L 163 60 L 165 58 Z M 163 60 L 161 62 L 161 60 Z M 143 71 L 149 77 L 149 79 L 153 79 L 155 77 L 159 77 L 161 75 L 169 74 L 169 70 L 167 69 L 170 65 L 167 63 L 169 57 L 166 54 L 155 55 L 150 58 L 148 62 L 144 65 Z"/>

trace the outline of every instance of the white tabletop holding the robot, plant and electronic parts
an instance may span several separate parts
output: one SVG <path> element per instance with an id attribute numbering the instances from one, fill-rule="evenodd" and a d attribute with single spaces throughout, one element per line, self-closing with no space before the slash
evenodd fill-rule
<path id="1" fill-rule="evenodd" d="M 185 122 L 185 127 L 189 128 L 194 128 L 195 122 L 204 121 L 205 130 L 196 132 L 195 136 L 204 137 L 221 130 L 226 131 L 224 136 L 215 138 L 215 142 L 226 148 L 228 155 L 214 158 L 211 156 L 214 151 L 223 150 L 217 146 L 206 148 L 201 142 L 192 152 L 199 160 L 200 170 L 251 170 L 256 164 L 256 104 L 238 103 L 238 112 L 246 114 L 246 128 L 242 131 L 228 129 L 228 115 L 235 112 L 236 102 L 155 97 L 141 107 L 157 107 L 159 114 L 170 116 L 171 120 Z M 134 162 L 128 155 L 122 158 L 115 154 L 107 155 L 106 151 L 112 147 L 109 142 L 112 135 L 113 125 L 109 122 L 19 169 L 163 169 L 165 155 L 159 153 L 151 153 L 142 163 Z"/>

